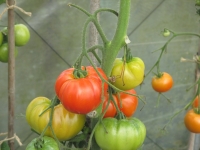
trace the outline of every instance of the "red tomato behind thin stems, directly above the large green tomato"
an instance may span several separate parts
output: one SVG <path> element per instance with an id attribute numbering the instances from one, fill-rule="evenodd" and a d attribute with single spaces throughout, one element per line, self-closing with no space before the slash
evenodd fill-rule
<path id="1" fill-rule="evenodd" d="M 129 92 L 135 95 L 137 94 L 134 89 L 128 90 L 126 92 Z M 119 109 L 124 113 L 126 117 L 131 117 L 135 113 L 138 106 L 138 98 L 136 96 L 132 96 L 132 95 L 121 92 L 119 93 L 119 96 L 118 94 L 113 94 L 113 98 L 115 101 L 117 101 L 116 104 L 118 105 Z M 107 101 L 108 100 L 104 101 L 103 110 L 105 110 Z M 115 105 L 111 101 L 108 106 L 108 110 L 106 114 L 104 115 L 104 118 L 114 117 L 116 113 L 117 111 L 116 111 Z"/>

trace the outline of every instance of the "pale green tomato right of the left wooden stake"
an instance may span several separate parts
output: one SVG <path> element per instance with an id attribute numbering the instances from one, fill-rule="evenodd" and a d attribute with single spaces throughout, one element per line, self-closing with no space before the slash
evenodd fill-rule
<path id="1" fill-rule="evenodd" d="M 15 25 L 15 45 L 24 46 L 30 39 L 29 29 L 23 24 Z"/>

